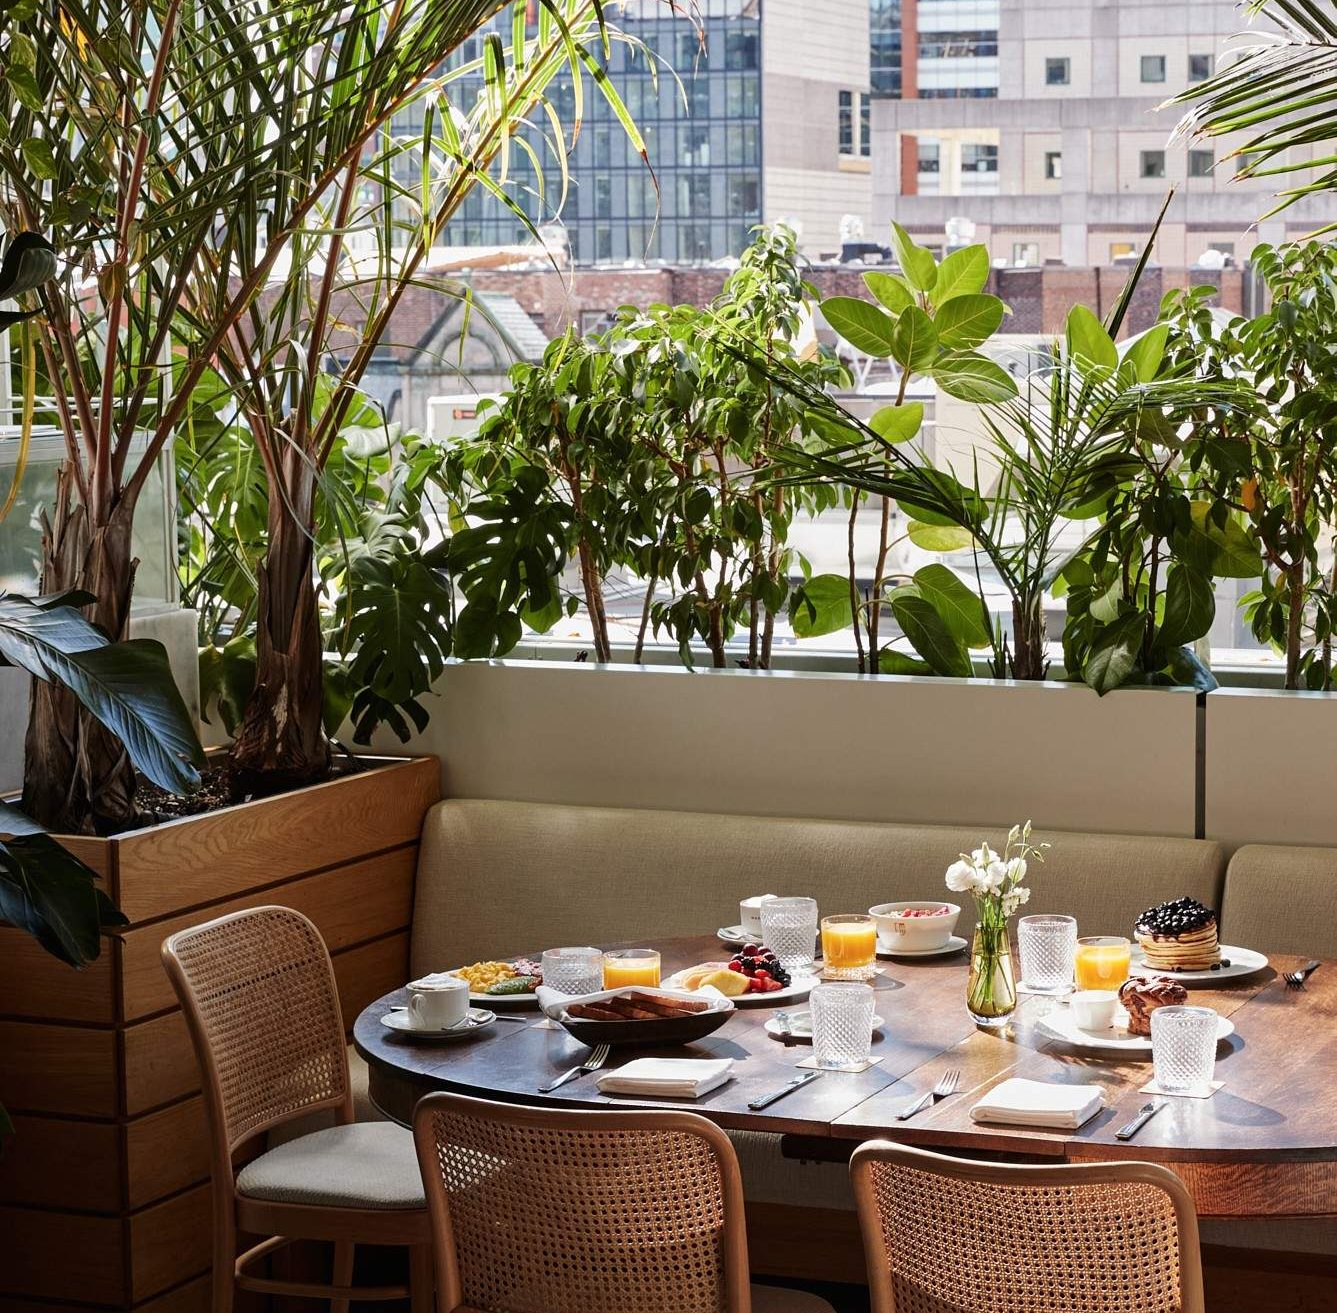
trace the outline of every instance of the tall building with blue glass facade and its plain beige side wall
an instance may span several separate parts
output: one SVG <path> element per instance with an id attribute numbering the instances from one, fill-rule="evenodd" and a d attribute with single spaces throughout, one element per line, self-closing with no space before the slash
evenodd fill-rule
<path id="1" fill-rule="evenodd" d="M 810 254 L 837 251 L 842 218 L 866 219 L 872 209 L 869 0 L 828 0 L 821 23 L 804 0 L 701 0 L 693 9 L 699 32 L 658 0 L 631 0 L 626 12 L 610 7 L 610 19 L 656 62 L 620 43 L 608 60 L 650 168 L 586 79 L 560 217 L 574 263 L 727 259 L 751 227 L 778 218 Z M 511 20 L 497 21 L 508 28 Z M 471 37 L 457 59 L 476 59 L 480 43 Z M 570 78 L 554 87 L 552 100 L 571 123 Z M 509 191 L 536 223 L 554 218 L 559 189 L 550 179 L 540 203 L 520 152 Z M 452 245 L 527 237 L 525 225 L 484 189 L 448 231 Z"/>

